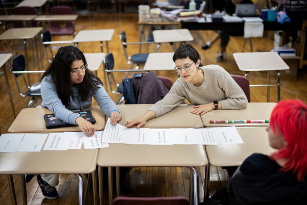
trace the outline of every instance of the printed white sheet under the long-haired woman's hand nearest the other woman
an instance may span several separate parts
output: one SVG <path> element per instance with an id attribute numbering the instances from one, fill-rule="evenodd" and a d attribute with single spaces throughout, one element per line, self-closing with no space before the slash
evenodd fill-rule
<path id="1" fill-rule="evenodd" d="M 122 137 L 124 130 L 127 130 L 127 128 L 120 125 L 119 123 L 112 125 L 110 123 L 110 118 L 108 118 L 103 131 L 102 142 L 125 143 L 125 138 Z"/>

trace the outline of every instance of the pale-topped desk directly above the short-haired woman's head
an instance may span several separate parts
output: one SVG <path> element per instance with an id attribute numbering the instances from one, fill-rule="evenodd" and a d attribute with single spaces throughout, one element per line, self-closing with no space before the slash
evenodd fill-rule
<path id="1" fill-rule="evenodd" d="M 161 43 L 174 43 L 174 50 L 176 50 L 176 42 L 190 42 L 194 39 L 188 29 L 155 30 L 152 31 L 152 35 L 155 43 L 158 43 L 155 52 L 158 51 Z"/>

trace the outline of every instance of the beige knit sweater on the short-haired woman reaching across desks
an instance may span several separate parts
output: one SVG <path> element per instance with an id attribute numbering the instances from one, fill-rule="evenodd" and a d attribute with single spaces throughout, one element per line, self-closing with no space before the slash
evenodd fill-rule
<path id="1" fill-rule="evenodd" d="M 248 101 L 243 90 L 224 68 L 208 65 L 201 69 L 204 71 L 204 82 L 199 88 L 191 82 L 185 83 L 180 77 L 169 93 L 149 110 L 155 112 L 156 117 L 159 117 L 176 108 L 184 99 L 187 99 L 192 105 L 204 105 L 217 100 L 221 102 L 224 110 L 246 108 Z"/>

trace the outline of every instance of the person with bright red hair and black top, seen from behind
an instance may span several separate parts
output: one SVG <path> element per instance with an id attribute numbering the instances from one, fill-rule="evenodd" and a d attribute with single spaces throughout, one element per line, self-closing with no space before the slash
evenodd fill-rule
<path id="1" fill-rule="evenodd" d="M 204 204 L 307 204 L 307 105 L 279 101 L 266 130 L 277 151 L 249 156 Z"/>

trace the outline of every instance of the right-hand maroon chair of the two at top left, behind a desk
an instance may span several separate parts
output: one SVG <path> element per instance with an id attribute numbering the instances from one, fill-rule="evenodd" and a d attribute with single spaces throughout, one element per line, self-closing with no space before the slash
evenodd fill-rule
<path id="1" fill-rule="evenodd" d="M 50 10 L 51 15 L 70 15 L 73 8 L 70 6 L 54 6 Z M 50 22 L 50 34 L 52 35 L 71 35 L 75 29 L 72 22 Z"/>

